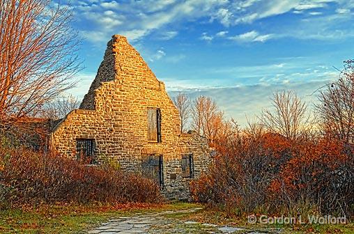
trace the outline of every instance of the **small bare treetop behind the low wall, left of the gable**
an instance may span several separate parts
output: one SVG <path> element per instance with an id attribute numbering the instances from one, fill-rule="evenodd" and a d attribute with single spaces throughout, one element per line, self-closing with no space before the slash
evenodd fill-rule
<path id="1" fill-rule="evenodd" d="M 70 111 L 78 109 L 80 101 L 72 95 L 57 98 L 53 102 L 47 104 L 47 109 L 43 113 L 43 117 L 58 120 L 64 118 Z"/>

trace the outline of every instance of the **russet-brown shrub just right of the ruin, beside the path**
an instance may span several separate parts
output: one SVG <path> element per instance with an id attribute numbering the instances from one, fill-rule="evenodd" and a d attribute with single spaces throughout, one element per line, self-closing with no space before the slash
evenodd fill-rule
<path id="1" fill-rule="evenodd" d="M 191 183 L 193 198 L 237 212 L 263 209 L 268 185 L 284 161 L 279 155 L 288 157 L 284 146 L 277 146 L 282 154 L 270 152 L 265 140 L 266 136 L 240 136 L 224 141 L 210 173 Z"/>

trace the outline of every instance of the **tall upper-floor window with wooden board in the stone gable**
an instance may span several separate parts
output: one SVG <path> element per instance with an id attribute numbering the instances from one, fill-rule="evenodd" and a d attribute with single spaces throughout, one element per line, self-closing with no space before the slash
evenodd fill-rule
<path id="1" fill-rule="evenodd" d="M 148 109 L 148 141 L 161 142 L 161 112 L 160 109 Z"/>

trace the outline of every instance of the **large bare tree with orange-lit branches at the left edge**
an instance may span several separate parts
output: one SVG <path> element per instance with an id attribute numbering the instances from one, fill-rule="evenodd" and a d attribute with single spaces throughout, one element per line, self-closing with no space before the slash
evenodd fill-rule
<path id="1" fill-rule="evenodd" d="M 72 11 L 49 0 L 0 1 L 0 126 L 43 111 L 75 82 Z"/>

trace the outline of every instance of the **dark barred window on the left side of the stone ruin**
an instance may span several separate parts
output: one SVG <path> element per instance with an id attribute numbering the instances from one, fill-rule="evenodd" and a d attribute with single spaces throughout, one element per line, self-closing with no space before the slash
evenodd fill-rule
<path id="1" fill-rule="evenodd" d="M 93 164 L 95 142 L 93 139 L 77 139 L 76 140 L 76 157 L 77 160 L 85 162 L 87 164 Z"/>

